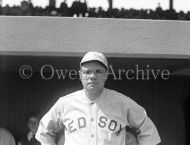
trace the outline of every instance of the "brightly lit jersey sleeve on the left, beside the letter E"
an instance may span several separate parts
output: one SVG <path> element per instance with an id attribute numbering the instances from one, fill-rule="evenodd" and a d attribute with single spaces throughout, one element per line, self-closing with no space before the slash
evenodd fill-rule
<path id="1" fill-rule="evenodd" d="M 40 120 L 35 137 L 41 145 L 56 145 L 55 134 L 64 127 L 60 119 L 60 107 L 58 100 Z"/>

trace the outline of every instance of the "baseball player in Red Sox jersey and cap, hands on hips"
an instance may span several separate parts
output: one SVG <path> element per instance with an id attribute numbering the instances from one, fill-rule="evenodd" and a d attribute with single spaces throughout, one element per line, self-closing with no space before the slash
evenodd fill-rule
<path id="1" fill-rule="evenodd" d="M 84 55 L 79 71 L 83 89 L 59 98 L 43 116 L 36 133 L 42 145 L 55 145 L 55 134 L 61 129 L 63 145 L 134 145 L 127 128 L 137 133 L 135 144 L 160 143 L 144 108 L 104 87 L 107 71 L 108 62 L 102 53 Z"/>

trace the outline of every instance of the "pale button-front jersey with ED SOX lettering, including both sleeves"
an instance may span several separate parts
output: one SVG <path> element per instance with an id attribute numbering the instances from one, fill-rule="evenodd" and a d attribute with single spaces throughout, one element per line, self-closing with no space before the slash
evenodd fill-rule
<path id="1" fill-rule="evenodd" d="M 126 126 L 139 132 L 140 145 L 160 142 L 145 110 L 129 97 L 104 89 L 90 101 L 80 90 L 54 104 L 41 119 L 36 138 L 42 145 L 55 145 L 55 132 L 64 128 L 63 145 L 126 145 Z"/>

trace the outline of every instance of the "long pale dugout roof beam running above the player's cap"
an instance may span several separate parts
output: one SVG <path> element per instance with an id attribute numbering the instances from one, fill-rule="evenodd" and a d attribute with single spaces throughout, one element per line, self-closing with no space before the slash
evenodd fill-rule
<path id="1" fill-rule="evenodd" d="M 190 58 L 190 22 L 0 17 L 0 55 Z"/>

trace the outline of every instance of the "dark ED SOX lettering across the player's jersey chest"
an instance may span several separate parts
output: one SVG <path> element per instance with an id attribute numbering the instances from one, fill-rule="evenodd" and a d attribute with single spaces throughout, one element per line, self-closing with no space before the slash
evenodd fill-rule
<path id="1" fill-rule="evenodd" d="M 107 128 L 110 131 L 116 131 L 118 123 L 115 120 L 108 119 L 106 116 L 100 116 L 98 119 L 97 125 L 100 128 Z M 82 128 L 85 128 L 85 127 L 86 127 L 86 118 L 85 117 L 79 117 L 75 121 L 71 120 L 68 123 L 68 130 L 70 133 L 73 133 L 73 132 L 80 130 Z"/>

